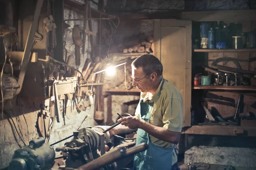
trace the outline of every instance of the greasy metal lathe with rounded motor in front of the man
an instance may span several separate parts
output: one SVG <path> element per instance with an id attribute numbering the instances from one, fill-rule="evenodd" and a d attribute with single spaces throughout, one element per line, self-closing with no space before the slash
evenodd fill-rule
<path id="1" fill-rule="evenodd" d="M 58 159 L 55 158 L 55 151 L 63 155 L 64 170 L 120 170 L 133 159 L 135 153 L 148 148 L 147 144 L 135 146 L 134 141 L 127 142 L 120 136 L 110 137 L 109 132 L 103 133 L 106 129 L 106 126 L 82 128 L 69 136 L 73 137 L 70 142 L 55 150 L 53 145 L 58 142 L 49 145 L 44 138 L 34 139 L 29 146 L 15 151 L 9 170 L 59 169 L 53 167 Z M 111 149 L 106 152 L 105 144 L 109 143 Z"/>

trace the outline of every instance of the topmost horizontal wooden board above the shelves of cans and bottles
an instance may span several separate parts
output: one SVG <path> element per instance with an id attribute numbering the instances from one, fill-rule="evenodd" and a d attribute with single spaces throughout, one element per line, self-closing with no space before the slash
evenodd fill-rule
<path id="1" fill-rule="evenodd" d="M 192 21 L 255 20 L 256 10 L 188 11 L 181 19 Z"/>

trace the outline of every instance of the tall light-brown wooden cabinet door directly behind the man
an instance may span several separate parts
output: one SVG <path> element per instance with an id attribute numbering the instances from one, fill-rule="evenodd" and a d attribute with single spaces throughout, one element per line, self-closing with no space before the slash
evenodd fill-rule
<path id="1" fill-rule="evenodd" d="M 191 125 L 191 34 L 190 20 L 154 20 L 154 55 L 183 97 L 183 127 Z"/>

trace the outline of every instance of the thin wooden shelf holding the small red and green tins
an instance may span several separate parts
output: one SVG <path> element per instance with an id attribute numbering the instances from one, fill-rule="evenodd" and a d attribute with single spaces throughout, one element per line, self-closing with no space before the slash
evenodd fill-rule
<path id="1" fill-rule="evenodd" d="M 224 86 L 224 85 L 195 85 L 192 89 L 227 90 L 227 91 L 256 91 L 256 86 Z"/>

